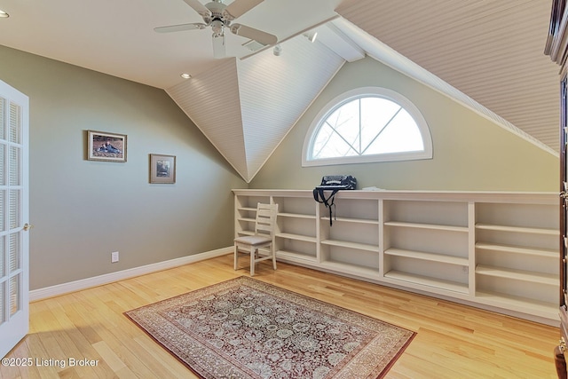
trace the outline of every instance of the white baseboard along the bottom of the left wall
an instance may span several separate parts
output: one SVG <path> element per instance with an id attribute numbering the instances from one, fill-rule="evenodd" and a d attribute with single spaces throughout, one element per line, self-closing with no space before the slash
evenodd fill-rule
<path id="1" fill-rule="evenodd" d="M 42 300 L 47 297 L 59 296 L 67 294 L 69 292 L 79 291 L 85 288 L 101 286 L 103 284 L 112 283 L 117 280 L 124 280 L 150 272 L 167 270 L 169 268 L 174 268 L 180 265 L 193 264 L 205 259 L 225 256 L 226 254 L 229 254 L 231 252 L 233 252 L 233 246 L 223 249 L 211 250 L 205 253 L 193 254 L 192 256 L 171 259 L 169 261 L 158 262 L 152 265 L 143 265 L 119 272 L 106 273 L 103 275 L 94 276 L 92 278 L 70 281 L 68 283 L 57 284 L 51 287 L 38 288 L 29 291 L 29 301 L 33 302 Z"/>

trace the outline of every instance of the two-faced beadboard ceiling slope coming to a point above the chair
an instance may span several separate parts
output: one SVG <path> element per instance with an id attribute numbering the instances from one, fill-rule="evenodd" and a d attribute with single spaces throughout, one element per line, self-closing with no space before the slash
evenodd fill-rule
<path id="1" fill-rule="evenodd" d="M 301 35 L 281 48 L 225 59 L 166 90 L 247 183 L 344 63 Z"/>

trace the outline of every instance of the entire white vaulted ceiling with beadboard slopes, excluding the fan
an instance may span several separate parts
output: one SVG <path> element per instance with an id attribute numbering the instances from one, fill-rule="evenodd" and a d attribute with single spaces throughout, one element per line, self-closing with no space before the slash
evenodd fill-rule
<path id="1" fill-rule="evenodd" d="M 119 3 L 0 0 L 11 15 L 0 44 L 164 89 L 246 181 L 342 65 L 365 55 L 558 150 L 558 67 L 543 54 L 551 0 L 264 0 L 239 22 L 277 36 L 282 53 L 229 34 L 225 59 L 213 59 L 209 32 L 154 33 L 201 20 L 184 1 Z M 315 43 L 304 36 L 313 28 Z"/>

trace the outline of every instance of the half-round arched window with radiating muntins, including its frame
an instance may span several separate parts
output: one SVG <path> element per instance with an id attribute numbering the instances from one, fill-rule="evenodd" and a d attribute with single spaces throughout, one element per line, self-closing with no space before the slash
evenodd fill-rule
<path id="1" fill-rule="evenodd" d="M 424 117 L 395 91 L 365 87 L 330 101 L 304 140 L 303 165 L 430 159 Z"/>

